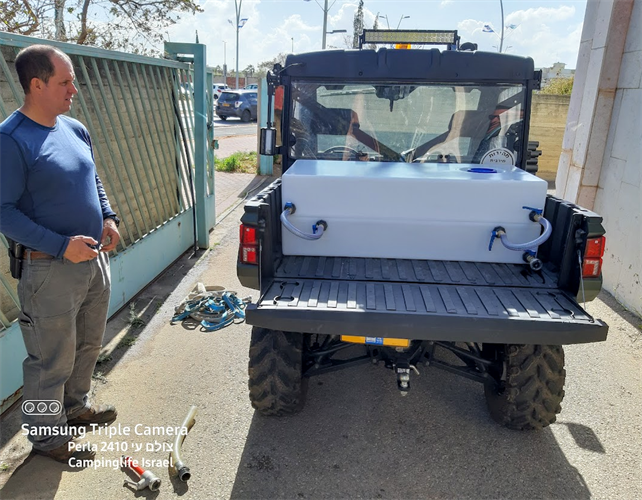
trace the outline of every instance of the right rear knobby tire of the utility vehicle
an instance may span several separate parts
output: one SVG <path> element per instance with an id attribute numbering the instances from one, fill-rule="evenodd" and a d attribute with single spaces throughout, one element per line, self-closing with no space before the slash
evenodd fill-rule
<path id="1" fill-rule="evenodd" d="M 509 429 L 538 430 L 555 422 L 564 399 L 564 350 L 560 345 L 492 345 L 497 361 L 484 385 L 493 419 Z"/>

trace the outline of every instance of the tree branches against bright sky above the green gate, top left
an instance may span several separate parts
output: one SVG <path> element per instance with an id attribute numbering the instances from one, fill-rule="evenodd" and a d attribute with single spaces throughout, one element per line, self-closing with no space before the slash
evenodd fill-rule
<path id="1" fill-rule="evenodd" d="M 152 54 L 164 29 L 198 0 L 6 0 L 0 29 L 80 45 Z M 100 20 L 98 20 L 100 19 Z"/>

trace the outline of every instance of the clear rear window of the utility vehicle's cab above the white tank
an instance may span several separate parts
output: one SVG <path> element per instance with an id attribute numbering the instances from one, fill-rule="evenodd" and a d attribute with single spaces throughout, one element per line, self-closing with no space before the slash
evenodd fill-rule
<path id="1" fill-rule="evenodd" d="M 524 95 L 521 85 L 294 82 L 290 156 L 518 165 Z"/>

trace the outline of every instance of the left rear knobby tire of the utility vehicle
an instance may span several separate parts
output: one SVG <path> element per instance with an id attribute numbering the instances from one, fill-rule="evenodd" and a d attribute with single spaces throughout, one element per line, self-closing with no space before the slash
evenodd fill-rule
<path id="1" fill-rule="evenodd" d="M 252 328 L 248 385 L 252 407 L 262 415 L 290 415 L 303 408 L 303 341 L 300 333 Z"/>

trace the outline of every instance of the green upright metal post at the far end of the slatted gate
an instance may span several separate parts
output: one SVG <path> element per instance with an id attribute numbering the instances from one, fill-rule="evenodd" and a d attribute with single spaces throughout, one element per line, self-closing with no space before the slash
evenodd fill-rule
<path id="1" fill-rule="evenodd" d="M 209 247 L 209 229 L 216 214 L 207 202 L 207 105 L 206 47 L 200 43 L 165 42 L 170 59 L 194 64 L 194 190 L 196 192 L 196 238 L 200 248 Z M 209 92 L 212 92 L 210 86 Z M 212 186 L 213 188 L 213 186 Z M 212 189 L 212 196 L 214 190 Z M 213 204 L 211 205 L 214 206 Z"/>

